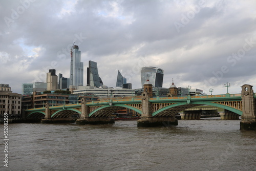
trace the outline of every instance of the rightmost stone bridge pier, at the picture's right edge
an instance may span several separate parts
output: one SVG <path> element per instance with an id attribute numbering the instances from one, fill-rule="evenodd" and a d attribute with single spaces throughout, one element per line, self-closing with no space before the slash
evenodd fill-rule
<path id="1" fill-rule="evenodd" d="M 240 130 L 256 130 L 256 110 L 252 86 L 244 84 L 241 97 L 243 115 L 241 116 Z"/>

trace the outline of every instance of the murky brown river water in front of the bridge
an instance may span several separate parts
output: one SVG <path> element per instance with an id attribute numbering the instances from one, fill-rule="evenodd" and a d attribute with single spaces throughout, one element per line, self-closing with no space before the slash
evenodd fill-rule
<path id="1" fill-rule="evenodd" d="M 214 118 L 162 127 L 9 124 L 8 168 L 2 162 L 0 170 L 255 170 L 256 132 L 239 124 Z"/>

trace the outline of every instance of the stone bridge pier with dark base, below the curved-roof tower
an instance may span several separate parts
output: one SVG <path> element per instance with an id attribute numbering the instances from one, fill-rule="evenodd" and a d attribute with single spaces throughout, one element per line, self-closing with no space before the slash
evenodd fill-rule
<path id="1" fill-rule="evenodd" d="M 167 117 L 153 117 L 152 106 L 150 97 L 147 92 L 142 93 L 142 114 L 138 120 L 138 127 L 153 127 L 153 126 L 166 126 L 166 125 L 178 125 L 178 119 L 175 116 Z"/>

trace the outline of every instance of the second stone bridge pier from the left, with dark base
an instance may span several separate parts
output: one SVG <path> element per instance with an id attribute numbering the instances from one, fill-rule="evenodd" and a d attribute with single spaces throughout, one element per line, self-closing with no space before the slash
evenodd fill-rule
<path id="1" fill-rule="evenodd" d="M 81 100 L 81 116 L 76 120 L 76 124 L 109 124 L 115 123 L 111 117 L 89 117 L 89 106 L 86 105 L 86 99 Z"/>

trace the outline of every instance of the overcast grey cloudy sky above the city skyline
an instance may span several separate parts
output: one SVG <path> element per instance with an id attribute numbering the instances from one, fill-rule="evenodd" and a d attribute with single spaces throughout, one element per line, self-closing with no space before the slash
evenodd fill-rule
<path id="1" fill-rule="evenodd" d="M 256 1 L 0 2 L 0 83 L 22 93 L 22 83 L 46 81 L 49 69 L 70 77 L 75 41 L 84 64 L 115 87 L 118 70 L 141 88 L 140 68 L 164 70 L 163 87 L 241 93 L 256 87 Z M 254 87 L 254 92 L 256 88 Z"/>

